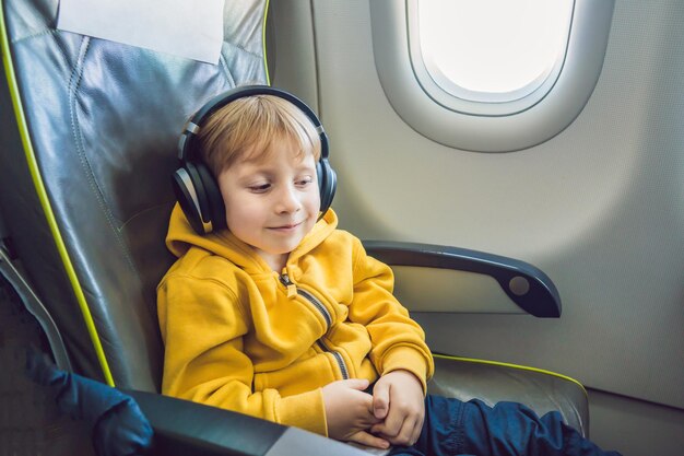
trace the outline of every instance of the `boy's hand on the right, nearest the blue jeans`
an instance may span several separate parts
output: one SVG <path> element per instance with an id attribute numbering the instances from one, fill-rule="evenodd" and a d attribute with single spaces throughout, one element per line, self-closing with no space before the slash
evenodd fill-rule
<path id="1" fill-rule="evenodd" d="M 373 412 L 382 422 L 370 432 L 393 445 L 413 445 L 425 418 L 423 386 L 409 371 L 392 371 L 377 381 L 373 390 Z"/>

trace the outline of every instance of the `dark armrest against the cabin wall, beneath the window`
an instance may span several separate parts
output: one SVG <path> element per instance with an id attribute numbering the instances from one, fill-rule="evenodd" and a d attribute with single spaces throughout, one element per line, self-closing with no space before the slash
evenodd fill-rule
<path id="1" fill-rule="evenodd" d="M 504 293 L 535 317 L 561 316 L 561 296 L 553 281 L 539 268 L 517 259 L 429 244 L 364 241 L 368 255 L 390 267 L 451 269 L 493 278 Z"/>

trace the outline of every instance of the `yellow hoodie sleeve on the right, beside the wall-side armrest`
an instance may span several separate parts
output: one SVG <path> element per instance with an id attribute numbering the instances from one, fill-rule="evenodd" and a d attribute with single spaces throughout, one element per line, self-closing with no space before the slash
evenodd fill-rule
<path id="1" fill-rule="evenodd" d="M 368 256 L 355 239 L 354 297 L 350 319 L 368 330 L 370 361 L 380 375 L 397 370 L 413 373 L 427 390 L 434 372 L 423 329 L 392 294 L 394 278 L 389 266 Z"/>

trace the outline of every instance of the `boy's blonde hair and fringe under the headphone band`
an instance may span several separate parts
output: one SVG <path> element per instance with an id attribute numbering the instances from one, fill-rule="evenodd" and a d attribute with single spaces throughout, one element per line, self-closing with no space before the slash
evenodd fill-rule
<path id="1" fill-rule="evenodd" d="M 200 156 L 214 176 L 237 160 L 268 159 L 278 141 L 291 141 L 297 156 L 320 157 L 320 136 L 306 114 L 274 95 L 237 98 L 213 113 L 198 132 Z"/>

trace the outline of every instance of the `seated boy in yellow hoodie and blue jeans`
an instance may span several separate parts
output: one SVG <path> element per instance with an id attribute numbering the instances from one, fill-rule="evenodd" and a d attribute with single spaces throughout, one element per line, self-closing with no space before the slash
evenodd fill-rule
<path id="1" fill-rule="evenodd" d="M 227 229 L 198 234 L 205 220 L 193 231 L 178 206 L 170 219 L 164 394 L 392 454 L 604 454 L 555 413 L 425 398 L 432 355 L 391 270 L 321 211 L 318 119 L 270 87 L 226 100 L 192 130 Z"/>

